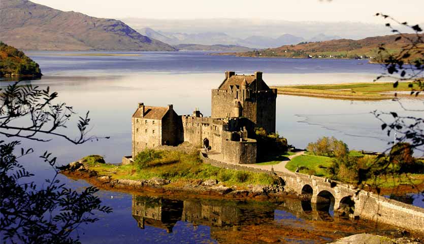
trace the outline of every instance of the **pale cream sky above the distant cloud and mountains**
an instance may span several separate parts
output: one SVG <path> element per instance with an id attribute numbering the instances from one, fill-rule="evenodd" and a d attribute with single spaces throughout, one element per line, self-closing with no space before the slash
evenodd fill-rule
<path id="1" fill-rule="evenodd" d="M 424 22 L 423 0 L 32 0 L 62 11 L 102 18 L 271 19 L 383 23 L 382 12 L 400 21 Z"/>

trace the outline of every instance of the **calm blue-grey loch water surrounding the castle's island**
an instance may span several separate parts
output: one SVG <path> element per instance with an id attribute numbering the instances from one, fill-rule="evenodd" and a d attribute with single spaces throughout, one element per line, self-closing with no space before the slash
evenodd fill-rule
<path id="1" fill-rule="evenodd" d="M 116 163 L 120 162 L 123 155 L 131 154 L 131 116 L 137 102 L 152 106 L 174 104 L 178 114 L 190 114 L 194 107 L 199 107 L 204 115 L 210 115 L 210 90 L 222 82 L 226 70 L 238 74 L 263 71 L 264 80 L 270 85 L 369 82 L 383 72 L 378 64 L 358 60 L 243 58 L 210 56 L 203 52 L 142 52 L 141 56 L 69 54 L 29 52 L 28 56 L 40 64 L 45 76 L 38 81 L 23 83 L 50 86 L 59 93 L 58 100 L 72 105 L 76 112 L 84 114 L 90 111 L 91 134 L 109 135 L 111 138 L 80 146 L 70 145 L 57 138 L 54 142 L 36 146 L 32 142 L 25 142 L 25 147 L 34 146 L 38 150 L 36 154 L 26 157 L 24 164 L 36 173 L 40 184 L 52 174 L 51 169 L 38 158 L 45 150 L 53 152 L 62 163 L 75 161 L 88 154 L 104 155 L 106 161 Z M 7 84 L 3 82 L 0 85 Z M 408 109 L 422 109 L 424 106 L 421 101 L 412 99 L 404 99 L 402 104 Z M 381 123 L 370 114 L 373 110 L 422 116 L 419 112 L 406 112 L 398 102 L 390 100 L 368 102 L 279 95 L 277 131 L 287 137 L 289 144 L 298 148 L 306 147 L 321 136 L 335 136 L 346 142 L 350 149 L 384 151 L 393 138 L 380 130 Z M 72 121 L 70 125 L 73 125 Z M 73 131 L 75 128 L 68 130 L 71 134 Z M 82 181 L 75 182 L 62 176 L 60 179 L 74 188 L 87 186 Z M 328 235 L 325 232 L 327 224 L 320 225 L 319 221 L 308 220 L 314 218 L 305 216 L 299 202 L 289 204 L 296 207 L 280 203 L 266 206 L 263 212 L 255 212 L 256 203 L 192 203 L 181 199 L 155 198 L 156 205 L 152 209 L 162 202 L 171 202 L 172 220 L 150 218 L 145 221 L 145 228 L 140 229 L 137 218 L 132 214 L 134 199 L 137 197 L 108 191 L 102 191 L 100 196 L 105 204 L 114 208 L 114 213 L 101 216 L 99 222 L 82 227 L 80 234 L 83 234 L 84 243 L 237 243 L 237 238 L 229 236 L 243 239 L 241 237 L 257 228 L 255 226 L 275 230 L 275 238 L 294 242 L 302 240 L 300 242 L 314 243 L 314 240 L 290 235 L 281 229 L 293 228 L 291 230 L 294 232 L 299 232 L 296 228 L 315 229 L 322 231 L 322 236 Z M 145 201 L 140 199 L 140 202 Z M 422 204 L 422 201 L 417 200 L 416 204 Z M 187 208 L 191 205 L 193 209 Z M 222 210 L 221 206 L 228 207 Z M 210 211 L 202 216 L 203 212 L 198 208 Z M 190 214 L 184 216 L 188 209 L 190 214 L 199 218 L 190 219 Z M 225 217 L 225 224 L 217 226 L 219 218 L 216 214 L 230 212 L 237 213 L 237 218 Z M 167 233 L 170 232 L 167 221 L 172 222 L 171 233 Z M 349 229 L 346 233 L 362 231 L 358 227 L 361 225 L 356 223 L 331 223 L 339 229 L 345 226 Z M 370 228 L 373 225 L 364 223 L 364 226 Z"/>

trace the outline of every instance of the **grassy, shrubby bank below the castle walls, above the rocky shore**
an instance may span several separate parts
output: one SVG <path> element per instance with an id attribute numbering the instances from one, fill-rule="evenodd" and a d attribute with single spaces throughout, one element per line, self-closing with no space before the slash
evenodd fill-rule
<path id="1" fill-rule="evenodd" d="M 128 165 L 103 163 L 103 158 L 91 155 L 82 162 L 99 175 L 112 179 L 149 180 L 155 177 L 177 182 L 193 179 L 216 179 L 225 186 L 272 185 L 275 178 L 266 173 L 231 170 L 203 163 L 199 154 L 145 150 Z"/>

